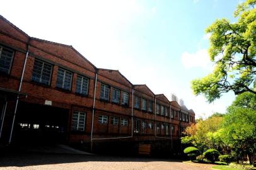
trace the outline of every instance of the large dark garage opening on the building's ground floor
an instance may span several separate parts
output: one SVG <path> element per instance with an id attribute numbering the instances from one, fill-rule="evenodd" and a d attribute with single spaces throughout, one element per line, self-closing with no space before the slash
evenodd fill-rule
<path id="1" fill-rule="evenodd" d="M 20 102 L 13 140 L 20 144 L 60 144 L 67 138 L 69 110 Z"/>

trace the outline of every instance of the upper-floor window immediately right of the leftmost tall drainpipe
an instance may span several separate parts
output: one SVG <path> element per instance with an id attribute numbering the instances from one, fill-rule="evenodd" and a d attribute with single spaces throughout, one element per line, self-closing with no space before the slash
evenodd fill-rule
<path id="1" fill-rule="evenodd" d="M 50 77 L 52 76 L 52 65 L 42 60 L 35 59 L 32 81 L 50 85 Z"/>

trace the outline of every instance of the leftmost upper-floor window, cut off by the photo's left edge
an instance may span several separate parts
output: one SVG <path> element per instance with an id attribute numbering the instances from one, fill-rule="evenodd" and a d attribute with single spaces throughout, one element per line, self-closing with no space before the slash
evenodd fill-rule
<path id="1" fill-rule="evenodd" d="M 0 72 L 9 74 L 11 70 L 11 62 L 13 62 L 13 50 L 0 46 Z"/>

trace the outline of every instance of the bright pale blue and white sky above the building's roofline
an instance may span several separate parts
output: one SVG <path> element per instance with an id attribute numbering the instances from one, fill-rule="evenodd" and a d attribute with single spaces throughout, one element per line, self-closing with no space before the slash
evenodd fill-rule
<path id="1" fill-rule="evenodd" d="M 235 21 L 238 0 L 3 1 L 0 14 L 32 37 L 73 45 L 96 67 L 118 69 L 155 94 L 175 93 L 196 117 L 223 112 L 235 96 L 209 104 L 190 81 L 212 71 L 207 26 Z M 72 56 L 71 56 L 72 57 Z"/>

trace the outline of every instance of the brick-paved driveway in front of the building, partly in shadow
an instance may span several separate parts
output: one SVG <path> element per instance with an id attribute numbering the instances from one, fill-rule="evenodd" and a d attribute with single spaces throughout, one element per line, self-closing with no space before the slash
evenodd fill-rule
<path id="1" fill-rule="evenodd" d="M 7 169 L 100 169 L 100 170 L 203 170 L 209 166 L 194 166 L 182 161 L 142 157 L 88 156 L 81 154 L 26 153 L 0 154 L 0 170 Z"/>

